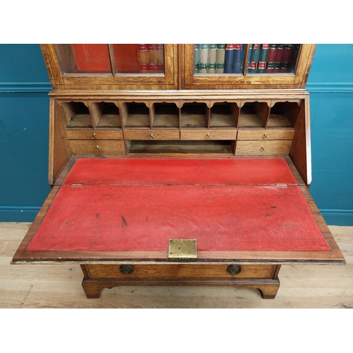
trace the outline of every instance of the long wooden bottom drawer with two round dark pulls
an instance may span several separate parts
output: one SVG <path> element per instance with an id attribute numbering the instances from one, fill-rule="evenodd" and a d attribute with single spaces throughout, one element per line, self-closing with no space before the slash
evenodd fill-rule
<path id="1" fill-rule="evenodd" d="M 229 268 L 232 264 L 209 264 L 209 263 L 165 263 L 150 264 L 141 263 L 122 267 L 116 264 L 85 265 L 86 272 L 90 279 L 102 278 L 116 280 L 212 280 L 228 279 L 237 280 L 244 278 L 272 278 L 275 265 L 238 265 L 239 268 Z M 125 265 L 125 266 L 126 266 Z M 233 264 L 234 265 L 234 264 Z M 240 272 L 231 274 L 230 272 Z M 126 270 L 123 273 L 121 271 Z M 233 270 L 233 271 L 232 271 Z M 235 271 L 234 271 L 235 270 Z"/>

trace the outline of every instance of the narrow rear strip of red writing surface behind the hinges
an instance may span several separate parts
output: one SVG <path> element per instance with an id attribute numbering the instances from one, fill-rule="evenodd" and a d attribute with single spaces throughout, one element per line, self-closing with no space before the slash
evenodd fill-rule
<path id="1" fill-rule="evenodd" d="M 92 159 L 76 162 L 64 184 L 297 184 L 288 164 L 273 159 Z"/>

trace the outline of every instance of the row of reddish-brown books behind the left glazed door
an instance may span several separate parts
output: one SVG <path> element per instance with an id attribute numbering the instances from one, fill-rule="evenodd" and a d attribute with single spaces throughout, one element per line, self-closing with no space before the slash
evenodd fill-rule
<path id="1" fill-rule="evenodd" d="M 140 73 L 164 73 L 163 44 L 137 44 Z"/>

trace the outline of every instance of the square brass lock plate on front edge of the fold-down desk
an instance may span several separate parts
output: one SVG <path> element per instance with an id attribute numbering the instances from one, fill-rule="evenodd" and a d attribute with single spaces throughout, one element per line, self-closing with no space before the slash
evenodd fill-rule
<path id="1" fill-rule="evenodd" d="M 169 261 L 197 261 L 196 239 L 169 239 Z"/>

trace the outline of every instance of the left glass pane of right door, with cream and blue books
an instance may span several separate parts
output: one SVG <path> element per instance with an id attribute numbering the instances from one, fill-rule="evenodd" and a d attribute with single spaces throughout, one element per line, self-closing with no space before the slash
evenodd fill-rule
<path id="1" fill-rule="evenodd" d="M 241 73 L 245 44 L 194 44 L 196 74 Z"/>

